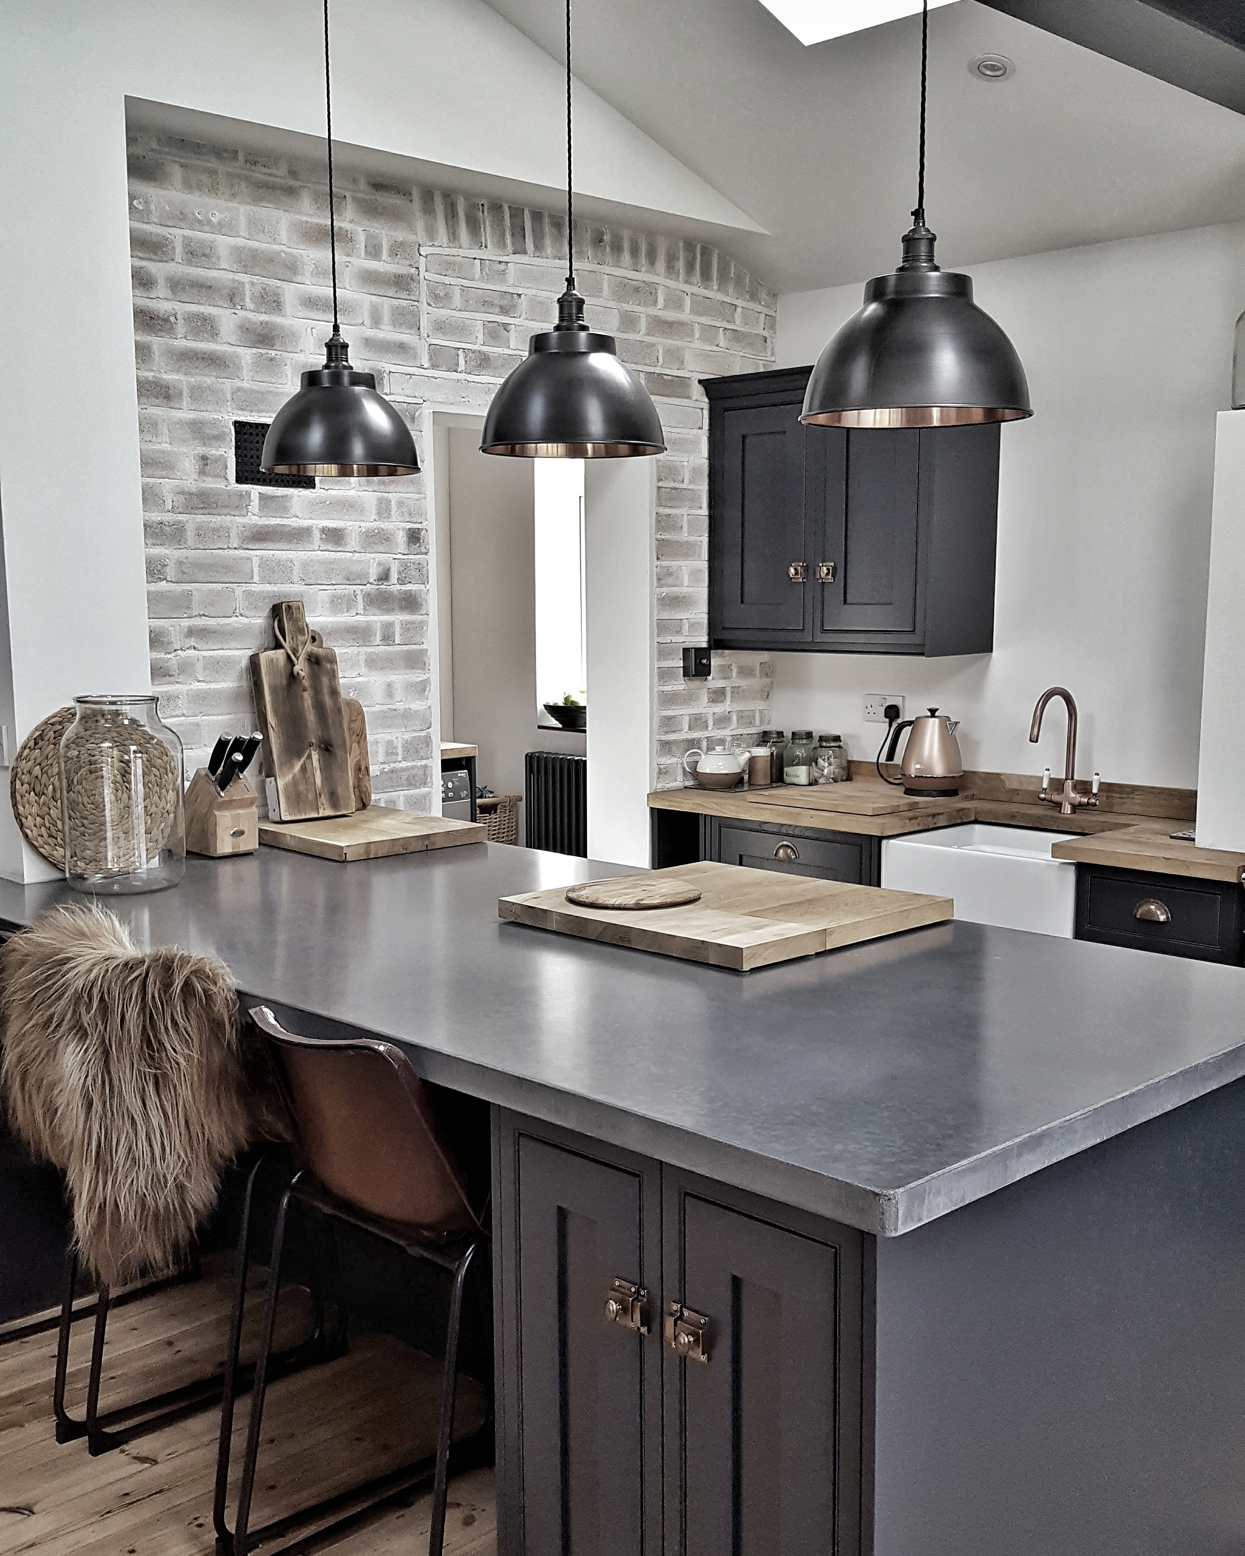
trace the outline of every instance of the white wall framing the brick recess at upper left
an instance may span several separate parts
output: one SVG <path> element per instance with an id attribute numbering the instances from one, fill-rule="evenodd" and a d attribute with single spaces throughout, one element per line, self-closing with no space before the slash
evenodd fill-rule
<path id="1" fill-rule="evenodd" d="M 482 0 L 352 0 L 335 20 L 344 143 L 559 187 L 562 67 Z M 126 98 L 319 137 L 322 40 L 307 0 L 0 0 L 0 201 L 22 212 L 0 224 L 20 359 L 0 384 L 0 633 L 20 738 L 73 694 L 149 688 Z M 752 226 L 588 89 L 576 131 L 585 194 Z M 0 868 L 48 873 L 9 843 Z"/>

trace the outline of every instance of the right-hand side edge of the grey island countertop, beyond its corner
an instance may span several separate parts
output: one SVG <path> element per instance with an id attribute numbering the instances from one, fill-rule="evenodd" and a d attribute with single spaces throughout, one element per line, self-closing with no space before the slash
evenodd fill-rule
<path id="1" fill-rule="evenodd" d="M 1172 1113 L 1186 1102 L 1195 1102 L 1242 1077 L 1245 1077 L 1245 1047 L 1225 1049 L 1187 1069 L 1159 1075 L 1106 1103 L 1063 1119 L 1057 1125 L 1047 1125 L 996 1150 L 957 1162 L 946 1172 L 931 1173 L 898 1190 L 875 1190 L 881 1220 L 876 1228 L 870 1226 L 865 1231 L 876 1231 L 881 1237 L 901 1237 L 904 1232 L 917 1231 L 929 1221 L 1019 1183 L 1044 1167 L 1054 1167 L 1055 1162 L 1102 1145 L 1139 1123 L 1149 1123 L 1150 1119 Z"/>

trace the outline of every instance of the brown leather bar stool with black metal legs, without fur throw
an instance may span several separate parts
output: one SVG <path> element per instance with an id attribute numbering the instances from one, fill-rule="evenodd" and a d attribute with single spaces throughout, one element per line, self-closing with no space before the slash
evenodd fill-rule
<path id="1" fill-rule="evenodd" d="M 339 1523 L 353 1523 L 369 1508 L 426 1481 L 431 1472 L 433 1522 L 428 1550 L 430 1556 L 440 1556 L 445 1537 L 462 1298 L 467 1273 L 486 1235 L 482 1220 L 472 1207 L 465 1176 L 437 1119 L 430 1088 L 416 1074 L 402 1049 L 370 1038 L 333 1041 L 296 1036 L 286 1032 L 263 1005 L 251 1011 L 251 1019 L 269 1043 L 297 1128 L 302 1167 L 285 1190 L 277 1211 L 238 1506 L 230 1530 L 226 1503 L 233 1436 L 233 1374 L 251 1257 L 246 1226 L 238 1240 L 235 1312 L 216 1456 L 213 1522 L 218 1551 L 224 1556 L 247 1556 L 247 1551 L 260 1542 L 285 1536 L 303 1522 L 331 1517 L 349 1505 L 341 1519 L 317 1530 L 314 1539 L 319 1542 Z M 439 1267 L 450 1277 L 437 1442 L 431 1461 L 423 1460 L 391 1470 L 353 1491 L 252 1530 L 251 1506 L 260 1427 L 280 1291 L 285 1226 L 291 1204 L 307 1206 L 327 1217 L 330 1223 L 341 1221 L 369 1232 L 412 1259 Z M 490 1421 L 481 1432 L 489 1428 Z"/>

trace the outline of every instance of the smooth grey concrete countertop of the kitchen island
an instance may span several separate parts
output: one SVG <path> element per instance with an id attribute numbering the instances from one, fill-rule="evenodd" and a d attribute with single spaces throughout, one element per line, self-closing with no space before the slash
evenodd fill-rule
<path id="1" fill-rule="evenodd" d="M 1245 1075 L 1239 968 L 942 924 L 738 974 L 498 921 L 613 873 L 261 848 L 109 906 L 305 1032 L 400 1039 L 430 1080 L 881 1235 Z M 0 882 L 0 920 L 58 899 Z"/>

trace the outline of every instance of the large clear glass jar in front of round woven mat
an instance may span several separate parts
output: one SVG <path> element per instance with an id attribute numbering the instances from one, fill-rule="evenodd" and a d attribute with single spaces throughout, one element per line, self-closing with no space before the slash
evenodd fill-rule
<path id="1" fill-rule="evenodd" d="M 61 739 L 65 879 L 79 892 L 159 892 L 185 871 L 182 742 L 156 697 L 75 697 Z"/>

